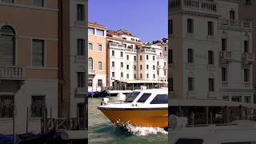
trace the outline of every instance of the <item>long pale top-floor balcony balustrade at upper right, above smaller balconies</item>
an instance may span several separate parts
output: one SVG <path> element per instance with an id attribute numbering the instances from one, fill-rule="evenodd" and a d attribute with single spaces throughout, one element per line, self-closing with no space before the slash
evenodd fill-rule
<path id="1" fill-rule="evenodd" d="M 251 22 L 245 22 L 245 21 L 238 21 L 233 19 L 224 19 L 221 18 L 218 22 L 219 26 L 229 26 L 229 27 L 238 27 L 243 29 L 251 29 L 252 23 Z"/>

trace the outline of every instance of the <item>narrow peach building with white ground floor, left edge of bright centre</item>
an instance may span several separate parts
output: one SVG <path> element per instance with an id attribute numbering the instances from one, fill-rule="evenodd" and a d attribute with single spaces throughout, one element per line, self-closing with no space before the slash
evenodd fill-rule
<path id="1" fill-rule="evenodd" d="M 106 88 L 106 26 L 88 26 L 88 91 L 101 91 Z"/>

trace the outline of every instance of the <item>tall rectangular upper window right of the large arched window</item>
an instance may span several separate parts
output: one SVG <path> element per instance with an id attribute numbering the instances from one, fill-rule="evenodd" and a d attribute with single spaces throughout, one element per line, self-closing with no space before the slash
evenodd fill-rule
<path id="1" fill-rule="evenodd" d="M 33 39 L 32 66 L 44 66 L 44 41 Z"/>

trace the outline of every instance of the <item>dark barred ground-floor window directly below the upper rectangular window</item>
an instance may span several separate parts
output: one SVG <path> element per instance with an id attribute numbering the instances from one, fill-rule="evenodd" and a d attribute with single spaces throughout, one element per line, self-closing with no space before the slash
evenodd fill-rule
<path id="1" fill-rule="evenodd" d="M 46 109 L 45 96 L 32 96 L 31 98 L 31 117 L 40 118 Z"/>

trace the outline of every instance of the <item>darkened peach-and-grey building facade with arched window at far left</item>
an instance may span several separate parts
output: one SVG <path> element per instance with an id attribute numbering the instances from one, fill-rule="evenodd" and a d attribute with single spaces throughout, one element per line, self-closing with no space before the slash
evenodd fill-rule
<path id="1" fill-rule="evenodd" d="M 57 55 L 58 1 L 0 1 L 1 134 L 39 133 L 45 109 L 58 118 Z"/>

